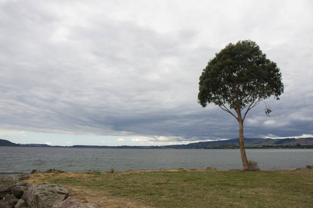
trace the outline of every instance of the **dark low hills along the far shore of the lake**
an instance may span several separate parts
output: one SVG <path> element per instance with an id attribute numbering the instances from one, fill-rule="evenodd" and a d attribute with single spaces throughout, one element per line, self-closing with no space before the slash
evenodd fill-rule
<path id="1" fill-rule="evenodd" d="M 175 149 L 196 149 L 196 148 L 210 148 L 216 146 L 238 146 L 239 139 L 227 139 L 216 141 L 200 141 L 191 144 L 179 144 L 168 146 L 88 146 L 88 145 L 74 145 L 74 146 L 49 146 L 47 144 L 15 144 L 8 140 L 0 139 L 0 146 L 29 146 L 29 147 L 58 147 L 58 148 L 175 148 Z M 246 147 L 275 147 L 275 146 L 313 146 L 313 137 L 310 138 L 287 138 L 287 139 L 245 139 Z M 312 148 L 312 147 L 311 147 Z"/>

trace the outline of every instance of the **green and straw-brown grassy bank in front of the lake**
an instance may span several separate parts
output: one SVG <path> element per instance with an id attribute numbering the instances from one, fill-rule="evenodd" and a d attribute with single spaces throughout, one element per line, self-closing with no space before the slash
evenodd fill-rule
<path id="1" fill-rule="evenodd" d="M 299 171 L 129 171 L 38 173 L 100 207 L 312 207 L 313 169 Z"/>

